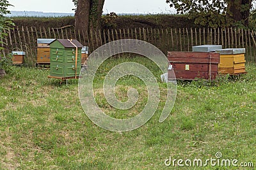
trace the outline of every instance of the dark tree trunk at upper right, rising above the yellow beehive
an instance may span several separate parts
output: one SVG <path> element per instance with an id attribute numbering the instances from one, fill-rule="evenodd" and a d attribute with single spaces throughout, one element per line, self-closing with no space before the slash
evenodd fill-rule
<path id="1" fill-rule="evenodd" d="M 248 26 L 248 18 L 252 0 L 228 0 L 227 1 L 227 19 L 233 22 L 241 22 L 244 26 Z"/>

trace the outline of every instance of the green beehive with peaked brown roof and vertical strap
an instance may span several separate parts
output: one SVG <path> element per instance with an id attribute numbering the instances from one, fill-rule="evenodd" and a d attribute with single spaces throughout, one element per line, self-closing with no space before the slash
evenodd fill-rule
<path id="1" fill-rule="evenodd" d="M 49 78 L 78 78 L 81 71 L 81 49 L 76 39 L 56 39 L 50 44 Z M 76 52 L 77 50 L 77 52 Z M 77 55 L 76 55 L 77 53 Z"/>

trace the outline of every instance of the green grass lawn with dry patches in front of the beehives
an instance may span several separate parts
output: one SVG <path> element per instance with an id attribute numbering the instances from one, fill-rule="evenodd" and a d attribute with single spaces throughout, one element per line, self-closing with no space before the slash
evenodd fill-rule
<path id="1" fill-rule="evenodd" d="M 143 81 L 125 76 L 117 83 L 119 99 L 136 87 L 139 101 L 118 111 L 102 94 L 104 75 L 116 64 L 136 61 L 159 80 L 161 101 L 147 124 L 131 132 L 110 132 L 93 124 L 83 112 L 77 80 L 60 84 L 49 70 L 12 67 L 0 79 L 0 169 L 253 169 L 253 167 L 165 166 L 169 159 L 237 159 L 256 167 L 256 65 L 248 74 L 223 76 L 211 85 L 204 81 L 178 82 L 171 115 L 159 123 L 166 84 L 150 61 L 135 57 L 109 59 L 97 73 L 95 96 L 113 117 L 133 117 L 147 103 Z M 126 98 L 125 98 L 126 97 Z M 184 163 L 183 163 L 184 164 Z"/>

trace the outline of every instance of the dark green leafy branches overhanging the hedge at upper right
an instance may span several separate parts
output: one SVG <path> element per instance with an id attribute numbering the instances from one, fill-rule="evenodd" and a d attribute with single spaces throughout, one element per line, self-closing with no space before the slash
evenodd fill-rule
<path id="1" fill-rule="evenodd" d="M 251 4 L 248 3 L 243 4 L 241 1 L 227 0 L 166 0 L 166 3 L 170 3 L 170 7 L 174 7 L 177 13 L 188 14 L 189 19 L 195 20 L 195 24 L 209 27 L 225 27 L 234 24 L 233 15 L 227 7 L 228 3 L 239 6 L 237 8 L 241 12 L 252 8 Z"/>

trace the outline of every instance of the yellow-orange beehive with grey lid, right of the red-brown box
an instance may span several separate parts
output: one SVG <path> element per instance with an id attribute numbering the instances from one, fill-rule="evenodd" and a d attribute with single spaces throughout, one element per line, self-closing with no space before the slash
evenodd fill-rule
<path id="1" fill-rule="evenodd" d="M 220 53 L 219 73 L 243 74 L 245 71 L 245 48 L 227 48 L 216 50 Z"/>

